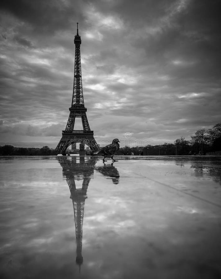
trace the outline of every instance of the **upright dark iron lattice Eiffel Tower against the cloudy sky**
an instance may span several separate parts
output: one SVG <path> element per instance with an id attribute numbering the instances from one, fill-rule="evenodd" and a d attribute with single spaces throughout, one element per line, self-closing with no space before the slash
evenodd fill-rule
<path id="1" fill-rule="evenodd" d="M 91 131 L 88 124 L 88 118 L 86 115 L 87 108 L 84 107 L 83 101 L 83 89 L 82 89 L 82 78 L 81 78 L 81 55 L 80 45 L 81 36 L 78 33 L 78 22 L 77 22 L 77 35 L 74 36 L 75 44 L 75 60 L 74 60 L 74 88 L 71 107 L 69 108 L 70 115 L 65 128 L 62 131 L 62 137 L 58 143 L 55 151 L 57 154 L 65 153 L 69 145 L 77 142 L 87 144 L 92 151 L 99 149 L 96 140 L 94 139 L 94 131 Z M 83 130 L 74 130 L 75 118 L 81 118 Z"/>

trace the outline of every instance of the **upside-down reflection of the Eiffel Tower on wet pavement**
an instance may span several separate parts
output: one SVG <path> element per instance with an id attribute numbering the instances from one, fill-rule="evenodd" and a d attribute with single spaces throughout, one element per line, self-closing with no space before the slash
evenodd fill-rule
<path id="1" fill-rule="evenodd" d="M 81 266 L 83 263 L 82 257 L 82 237 L 83 237 L 83 214 L 84 214 L 84 203 L 87 198 L 87 189 L 91 176 L 94 173 L 94 166 L 96 160 L 90 159 L 85 162 L 84 157 L 80 156 L 79 163 L 77 163 L 76 156 L 72 157 L 58 157 L 60 165 L 63 170 L 63 177 L 66 178 L 67 184 L 70 189 L 70 198 L 73 202 L 74 207 L 74 222 L 75 222 L 75 233 L 76 233 L 76 263 Z M 69 160 L 70 159 L 70 160 Z M 82 188 L 76 188 L 75 179 L 83 180 Z"/>

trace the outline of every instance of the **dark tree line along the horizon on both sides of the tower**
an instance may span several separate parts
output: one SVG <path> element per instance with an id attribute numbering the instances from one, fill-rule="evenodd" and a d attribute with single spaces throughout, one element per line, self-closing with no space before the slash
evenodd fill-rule
<path id="1" fill-rule="evenodd" d="M 221 123 L 214 125 L 211 129 L 197 130 L 191 139 L 187 140 L 181 136 L 174 143 L 165 142 L 164 144 L 151 145 L 145 147 L 124 146 L 118 150 L 117 155 L 188 155 L 213 153 L 221 151 Z M 2 156 L 44 156 L 56 155 L 54 149 L 48 146 L 42 148 L 24 148 L 14 147 L 13 145 L 0 146 L 0 155 Z"/>

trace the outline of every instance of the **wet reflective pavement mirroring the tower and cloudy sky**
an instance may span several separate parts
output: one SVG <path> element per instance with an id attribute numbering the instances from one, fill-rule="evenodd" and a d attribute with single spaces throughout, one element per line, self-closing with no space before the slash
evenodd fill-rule
<path id="1" fill-rule="evenodd" d="M 221 277 L 221 157 L 0 157 L 1 278 Z"/>

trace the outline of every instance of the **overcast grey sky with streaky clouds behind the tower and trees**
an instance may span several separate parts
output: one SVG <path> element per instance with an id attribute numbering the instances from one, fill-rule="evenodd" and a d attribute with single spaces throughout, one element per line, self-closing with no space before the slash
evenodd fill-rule
<path id="1" fill-rule="evenodd" d="M 124 142 L 128 133 L 163 144 L 221 122 L 219 0 L 0 5 L 0 145 L 58 144 L 72 100 L 76 22 L 84 104 L 98 143 Z"/>

